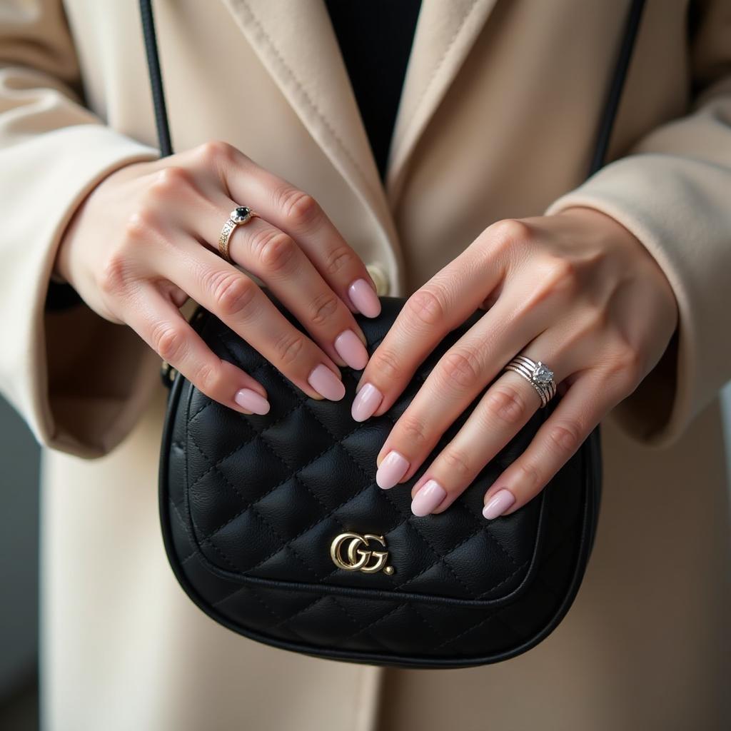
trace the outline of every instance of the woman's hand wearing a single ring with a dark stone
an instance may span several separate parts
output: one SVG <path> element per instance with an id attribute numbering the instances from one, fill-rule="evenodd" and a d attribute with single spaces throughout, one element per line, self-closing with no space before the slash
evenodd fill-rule
<path id="1" fill-rule="evenodd" d="M 235 228 L 230 257 L 311 337 L 217 253 L 238 205 L 260 217 Z M 268 412 L 265 389 L 194 332 L 180 312 L 189 297 L 308 396 L 333 401 L 345 393 L 338 366 L 368 360 L 353 313 L 380 311 L 366 265 L 317 202 L 219 141 L 108 175 L 69 221 L 55 271 L 97 314 L 132 327 L 202 393 L 243 413 Z"/>

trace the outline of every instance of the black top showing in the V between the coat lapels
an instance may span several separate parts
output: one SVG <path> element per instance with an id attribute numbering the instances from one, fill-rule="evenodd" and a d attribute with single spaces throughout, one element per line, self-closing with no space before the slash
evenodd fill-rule
<path id="1" fill-rule="evenodd" d="M 421 0 L 325 0 L 383 178 Z"/>

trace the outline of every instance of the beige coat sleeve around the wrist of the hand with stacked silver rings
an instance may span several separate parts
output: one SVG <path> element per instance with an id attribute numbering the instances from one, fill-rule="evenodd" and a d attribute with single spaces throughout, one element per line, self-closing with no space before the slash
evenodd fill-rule
<path id="1" fill-rule="evenodd" d="M 704 7 L 689 69 L 696 93 L 686 116 L 651 130 L 545 211 L 581 205 L 607 213 L 643 243 L 673 287 L 679 322 L 670 344 L 608 416 L 649 447 L 676 442 L 731 379 L 729 0 Z"/>

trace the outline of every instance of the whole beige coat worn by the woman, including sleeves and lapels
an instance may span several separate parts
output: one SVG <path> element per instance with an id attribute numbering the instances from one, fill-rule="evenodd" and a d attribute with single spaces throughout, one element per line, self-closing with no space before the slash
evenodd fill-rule
<path id="1" fill-rule="evenodd" d="M 0 387 L 46 447 L 48 729 L 728 728 L 731 3 L 694 3 L 692 44 L 687 4 L 648 1 L 619 159 L 581 184 L 629 2 L 424 0 L 382 186 L 321 0 L 155 3 L 175 150 L 227 140 L 306 189 L 382 293 L 496 219 L 581 204 L 632 230 L 677 296 L 677 337 L 605 419 L 599 537 L 566 620 L 509 662 L 406 671 L 259 645 L 178 588 L 159 359 L 88 308 L 43 311 L 80 200 L 158 155 L 137 2 L 0 2 Z"/>

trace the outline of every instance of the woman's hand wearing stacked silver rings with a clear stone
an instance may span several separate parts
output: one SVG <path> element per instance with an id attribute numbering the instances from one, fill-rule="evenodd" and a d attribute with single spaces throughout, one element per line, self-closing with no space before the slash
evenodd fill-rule
<path id="1" fill-rule="evenodd" d="M 515 355 L 553 369 L 561 402 L 485 494 L 483 515 L 518 510 L 568 461 L 602 417 L 659 361 L 678 322 L 673 290 L 644 246 L 591 208 L 499 221 L 407 300 L 358 384 L 353 417 L 382 414 L 417 366 L 482 306 L 379 452 L 376 482 L 409 480 L 444 431 Z M 442 512 L 541 404 L 505 371 L 412 490 L 416 515 Z"/>

